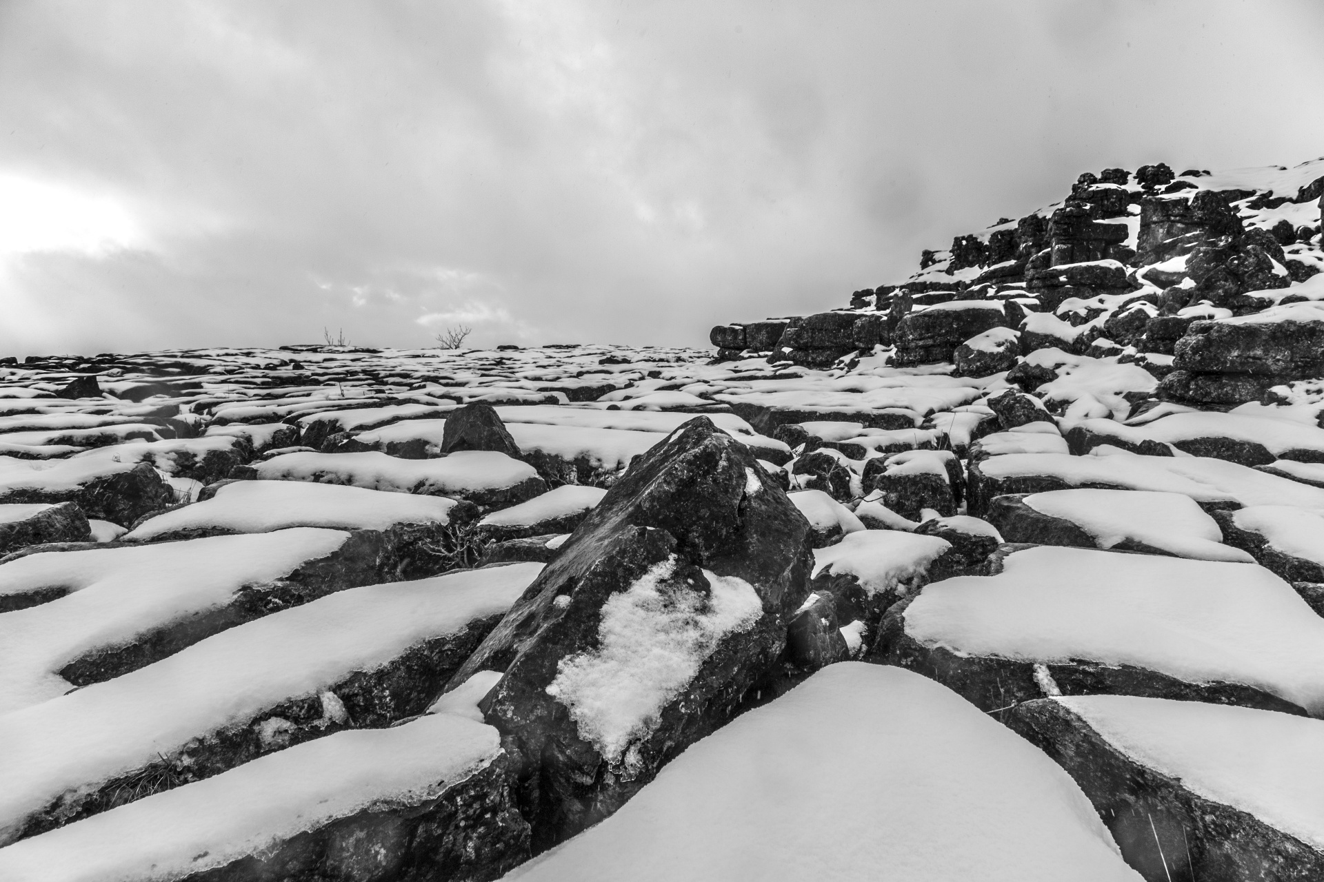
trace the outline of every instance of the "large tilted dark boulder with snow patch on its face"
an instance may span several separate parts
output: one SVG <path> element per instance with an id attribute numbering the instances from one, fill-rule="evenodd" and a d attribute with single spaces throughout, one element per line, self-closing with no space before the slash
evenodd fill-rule
<path id="1" fill-rule="evenodd" d="M 809 532 L 744 446 L 704 418 L 608 491 L 451 680 L 504 670 L 481 706 L 516 758 L 535 848 L 609 815 L 753 698 L 806 595 Z M 687 647 L 677 666 L 609 676 L 646 664 L 642 647 L 665 627 L 687 635 L 667 637 Z"/>

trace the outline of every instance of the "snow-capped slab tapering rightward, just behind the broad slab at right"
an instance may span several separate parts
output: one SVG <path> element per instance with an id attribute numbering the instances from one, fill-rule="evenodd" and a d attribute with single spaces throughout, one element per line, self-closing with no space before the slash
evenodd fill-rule
<path id="1" fill-rule="evenodd" d="M 1149 551 L 1250 563 L 1218 522 L 1182 493 L 1071 489 L 994 496 L 988 520 L 1008 542 Z"/>

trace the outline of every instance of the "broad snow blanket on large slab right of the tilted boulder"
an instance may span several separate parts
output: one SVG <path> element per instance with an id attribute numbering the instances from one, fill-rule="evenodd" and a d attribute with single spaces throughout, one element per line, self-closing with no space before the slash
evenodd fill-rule
<path id="1" fill-rule="evenodd" d="M 1324 715 L 1324 619 L 1250 563 L 1035 546 L 924 587 L 906 632 L 959 655 L 1136 665 L 1255 686 Z"/>

